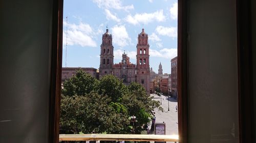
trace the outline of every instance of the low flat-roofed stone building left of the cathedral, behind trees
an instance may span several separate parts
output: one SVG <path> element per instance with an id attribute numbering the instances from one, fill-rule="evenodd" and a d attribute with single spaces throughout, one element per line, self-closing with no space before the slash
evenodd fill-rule
<path id="1" fill-rule="evenodd" d="M 97 69 L 95 68 L 80 68 L 80 67 L 62 67 L 61 82 L 69 79 L 76 74 L 76 70 L 82 69 L 84 72 L 91 74 L 93 77 L 98 78 Z"/>

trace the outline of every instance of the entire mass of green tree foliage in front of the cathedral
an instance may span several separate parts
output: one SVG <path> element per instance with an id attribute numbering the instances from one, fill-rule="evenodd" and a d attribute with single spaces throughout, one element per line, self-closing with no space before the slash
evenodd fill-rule
<path id="1" fill-rule="evenodd" d="M 160 107 L 141 84 L 126 86 L 113 75 L 100 80 L 79 69 L 63 83 L 60 129 L 68 133 L 130 133 L 129 117 L 136 116 L 136 133 Z"/>

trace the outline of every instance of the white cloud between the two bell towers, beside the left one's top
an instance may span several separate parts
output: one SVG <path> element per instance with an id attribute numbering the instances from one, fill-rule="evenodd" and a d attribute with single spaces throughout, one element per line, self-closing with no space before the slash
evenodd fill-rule
<path id="1" fill-rule="evenodd" d="M 124 47 L 131 43 L 131 38 L 129 37 L 124 25 L 115 25 L 111 28 L 111 31 L 114 44 Z"/>

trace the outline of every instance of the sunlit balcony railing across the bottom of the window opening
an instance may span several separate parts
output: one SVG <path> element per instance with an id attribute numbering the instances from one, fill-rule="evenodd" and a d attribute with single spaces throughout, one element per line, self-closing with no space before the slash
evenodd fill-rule
<path id="1" fill-rule="evenodd" d="M 178 142 L 178 135 L 154 134 L 60 134 L 59 141 L 116 140 L 116 141 L 173 141 Z"/>

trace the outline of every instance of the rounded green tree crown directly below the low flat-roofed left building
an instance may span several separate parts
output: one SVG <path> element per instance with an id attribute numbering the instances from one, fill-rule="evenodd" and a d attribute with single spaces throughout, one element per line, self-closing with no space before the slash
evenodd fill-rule
<path id="1" fill-rule="evenodd" d="M 62 94 L 66 96 L 85 95 L 95 90 L 99 81 L 82 69 L 63 83 Z"/>

